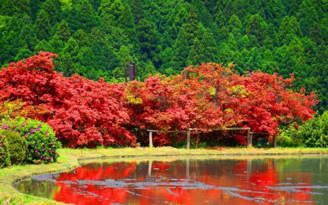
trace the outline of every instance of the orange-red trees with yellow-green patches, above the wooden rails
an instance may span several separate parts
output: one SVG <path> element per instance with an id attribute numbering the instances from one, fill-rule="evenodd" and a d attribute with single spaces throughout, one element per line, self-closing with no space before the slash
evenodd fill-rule
<path id="1" fill-rule="evenodd" d="M 140 128 L 204 131 L 250 127 L 253 132 L 278 133 L 280 124 L 311 119 L 317 103 L 290 89 L 294 77 L 261 72 L 237 75 L 218 64 L 188 67 L 171 78 L 150 76 L 127 87 L 132 123 Z M 244 139 L 239 136 L 240 144 Z"/>

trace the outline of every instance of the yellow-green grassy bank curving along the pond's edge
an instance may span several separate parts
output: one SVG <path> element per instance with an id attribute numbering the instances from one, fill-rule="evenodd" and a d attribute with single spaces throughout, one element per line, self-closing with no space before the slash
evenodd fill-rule
<path id="1" fill-rule="evenodd" d="M 2 204 L 62 204 L 52 200 L 29 196 L 19 193 L 12 185 L 15 181 L 35 174 L 49 172 L 63 172 L 80 165 L 79 159 L 96 159 L 101 157 L 128 157 L 135 156 L 147 159 L 151 156 L 183 156 L 183 155 L 220 155 L 222 158 L 232 156 L 268 157 L 268 155 L 295 154 L 328 154 L 328 149 L 319 148 L 277 148 L 277 149 L 245 149 L 222 148 L 219 150 L 186 150 L 170 147 L 163 148 L 123 148 L 123 149 L 59 149 L 58 162 L 50 165 L 13 166 L 0 170 L 0 203 Z M 168 157 L 166 157 L 168 158 Z"/>

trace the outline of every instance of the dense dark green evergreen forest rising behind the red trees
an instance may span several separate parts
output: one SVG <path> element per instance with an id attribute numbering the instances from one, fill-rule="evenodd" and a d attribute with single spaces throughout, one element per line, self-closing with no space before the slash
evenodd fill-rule
<path id="1" fill-rule="evenodd" d="M 215 61 L 234 69 L 294 73 L 328 108 L 326 0 L 0 0 L 0 66 L 38 51 L 58 54 L 70 76 L 121 82 L 172 75 Z M 327 42 L 327 43 L 326 43 Z"/>

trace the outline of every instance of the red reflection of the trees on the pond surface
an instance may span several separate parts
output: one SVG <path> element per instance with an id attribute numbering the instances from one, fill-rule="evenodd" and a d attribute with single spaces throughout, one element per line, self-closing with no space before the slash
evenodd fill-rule
<path id="1" fill-rule="evenodd" d="M 88 181 L 83 184 L 74 183 L 79 180 L 101 182 L 107 179 L 118 180 L 120 185 L 124 186 L 106 187 Z M 73 172 L 62 173 L 56 180 L 56 186 L 60 189 L 55 192 L 54 199 L 75 204 L 170 202 L 253 205 L 257 203 L 256 200 L 265 204 L 304 204 L 304 201 L 307 201 L 307 204 L 315 204 L 311 202 L 310 193 L 268 188 L 283 187 L 286 182 L 293 185 L 299 183 L 301 186 L 311 185 L 310 173 L 278 173 L 273 159 L 256 164 L 250 160 L 92 164 L 79 167 Z M 152 183 L 140 187 L 139 182 L 147 181 Z M 177 182 L 180 184 L 177 185 Z M 197 182 L 200 185 L 198 183 L 197 186 L 188 187 L 189 183 L 194 185 Z M 217 189 L 203 189 L 206 185 L 215 186 Z"/>

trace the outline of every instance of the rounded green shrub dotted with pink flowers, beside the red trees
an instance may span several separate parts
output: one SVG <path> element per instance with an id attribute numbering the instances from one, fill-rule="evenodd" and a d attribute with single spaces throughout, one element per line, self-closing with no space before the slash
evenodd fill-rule
<path id="1" fill-rule="evenodd" d="M 58 158 L 56 150 L 61 147 L 50 126 L 35 119 L 16 117 L 3 122 L 10 129 L 24 136 L 28 142 L 28 163 L 50 163 Z"/>

